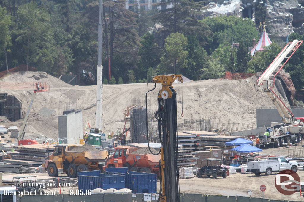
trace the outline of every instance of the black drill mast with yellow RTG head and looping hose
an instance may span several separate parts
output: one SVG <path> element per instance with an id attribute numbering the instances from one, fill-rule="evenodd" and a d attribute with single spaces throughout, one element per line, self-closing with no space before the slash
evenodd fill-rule
<path id="1" fill-rule="evenodd" d="M 176 91 L 173 82 L 183 82 L 181 75 L 155 76 L 152 81 L 161 83 L 158 93 L 158 110 L 154 113 L 158 120 L 158 134 L 161 140 L 161 162 L 160 162 L 160 197 L 161 202 L 179 202 L 179 178 L 178 178 L 178 142 L 177 142 L 177 107 Z M 150 90 L 150 91 L 152 91 Z M 148 91 L 149 92 L 149 91 Z M 147 93 L 148 93 L 147 92 Z M 147 94 L 146 94 L 147 110 Z M 147 111 L 146 111 L 147 113 Z M 148 119 L 147 119 L 148 120 Z M 148 132 L 148 124 L 147 124 Z M 148 134 L 147 134 L 148 138 Z M 149 140 L 148 140 L 149 144 Z M 150 149 L 150 147 L 149 147 Z M 151 152 L 152 153 L 152 152 Z M 153 153 L 152 153 L 153 154 Z"/>

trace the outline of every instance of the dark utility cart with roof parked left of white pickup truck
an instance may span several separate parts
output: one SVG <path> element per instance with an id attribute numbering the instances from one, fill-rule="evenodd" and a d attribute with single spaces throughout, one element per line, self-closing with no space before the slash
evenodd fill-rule
<path id="1" fill-rule="evenodd" d="M 202 167 L 202 162 L 207 161 L 207 165 Z M 201 168 L 197 171 L 196 177 L 201 177 L 206 175 L 207 177 L 212 176 L 216 178 L 217 176 L 222 176 L 225 178 L 227 176 L 227 168 L 220 167 L 222 160 L 219 158 L 205 158 L 201 161 Z"/>

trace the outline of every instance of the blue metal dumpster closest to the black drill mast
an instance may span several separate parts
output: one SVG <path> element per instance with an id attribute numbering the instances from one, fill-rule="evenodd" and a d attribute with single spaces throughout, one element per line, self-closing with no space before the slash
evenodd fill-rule
<path id="1" fill-rule="evenodd" d="M 132 190 L 133 194 L 157 193 L 157 175 L 128 171 L 128 168 L 106 168 L 106 174 L 121 174 L 126 176 L 126 188 Z"/>

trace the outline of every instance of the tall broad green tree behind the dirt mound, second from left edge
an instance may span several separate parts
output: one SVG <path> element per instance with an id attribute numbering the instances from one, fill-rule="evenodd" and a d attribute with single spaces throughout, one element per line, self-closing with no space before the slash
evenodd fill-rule
<path id="1" fill-rule="evenodd" d="M 20 53 L 26 53 L 26 65 L 29 62 L 39 65 L 47 71 L 54 65 L 54 38 L 50 27 L 50 15 L 31 2 L 19 7 L 15 33 L 16 41 L 23 44 Z M 22 54 L 23 55 L 23 54 Z"/>

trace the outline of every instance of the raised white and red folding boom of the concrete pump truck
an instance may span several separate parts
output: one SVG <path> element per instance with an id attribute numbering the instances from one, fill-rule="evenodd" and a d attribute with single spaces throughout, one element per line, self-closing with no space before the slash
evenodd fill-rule
<path id="1" fill-rule="evenodd" d="M 299 48 L 299 46 L 303 43 L 303 41 L 294 40 L 292 42 L 288 42 L 282 51 L 277 55 L 274 61 L 271 62 L 269 67 L 263 72 L 261 77 L 257 80 L 257 85 L 263 85 L 264 92 L 269 96 L 273 104 L 275 104 L 280 116 L 282 117 L 282 121 L 286 124 L 292 124 L 297 119 L 294 114 L 288 109 L 288 107 L 283 103 L 283 101 L 278 97 L 277 94 L 273 91 L 273 87 L 275 85 L 275 77 L 278 72 L 283 68 L 286 62 L 290 59 L 290 57 L 295 53 L 295 51 Z M 291 54 L 290 54 L 291 53 Z M 290 54 L 290 55 L 289 55 Z M 289 56 L 288 56 L 289 55 Z M 284 64 L 281 64 L 285 60 Z M 275 73 L 275 74 L 274 74 Z M 273 76 L 273 80 L 269 79 L 270 76 Z"/>

